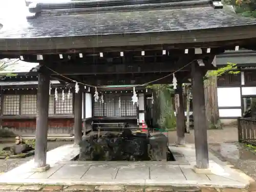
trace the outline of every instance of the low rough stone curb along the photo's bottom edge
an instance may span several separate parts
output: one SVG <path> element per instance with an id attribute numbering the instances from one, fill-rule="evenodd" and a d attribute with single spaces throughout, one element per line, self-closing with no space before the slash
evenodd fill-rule
<path id="1" fill-rule="evenodd" d="M 140 185 L 0 185 L 0 192 L 250 192 L 239 188 L 140 186 Z"/>

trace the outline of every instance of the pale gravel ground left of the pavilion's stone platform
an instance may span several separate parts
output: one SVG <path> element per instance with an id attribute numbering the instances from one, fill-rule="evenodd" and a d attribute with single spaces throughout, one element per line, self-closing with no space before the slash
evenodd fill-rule
<path id="1" fill-rule="evenodd" d="M 73 142 L 69 141 L 56 141 L 56 142 L 48 142 L 48 150 L 53 150 L 61 145 L 72 144 Z M 2 150 L 5 146 L 11 146 L 13 143 L 0 143 L 0 150 Z M 9 170 L 26 163 L 27 161 L 33 159 L 33 156 L 26 157 L 22 159 L 0 159 L 0 174 L 4 172 L 8 172 Z"/>

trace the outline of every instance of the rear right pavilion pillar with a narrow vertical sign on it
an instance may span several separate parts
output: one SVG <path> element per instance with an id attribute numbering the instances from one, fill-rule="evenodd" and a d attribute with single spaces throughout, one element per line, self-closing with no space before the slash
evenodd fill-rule
<path id="1" fill-rule="evenodd" d="M 176 119 L 177 119 L 177 145 L 185 144 L 185 111 L 183 104 L 183 92 L 182 92 L 182 83 L 178 83 L 176 90 L 176 98 L 178 99 L 177 110 L 176 110 Z"/>

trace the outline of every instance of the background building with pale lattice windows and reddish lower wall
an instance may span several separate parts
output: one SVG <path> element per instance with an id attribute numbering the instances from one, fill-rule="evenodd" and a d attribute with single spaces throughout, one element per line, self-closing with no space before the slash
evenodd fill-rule
<path id="1" fill-rule="evenodd" d="M 18 61 L 14 70 L 0 72 L 0 119 L 3 127 L 8 127 L 15 134 L 33 135 L 36 130 L 37 85 L 38 76 L 29 75 L 37 63 Z M 8 70 L 8 69 L 7 69 Z M 11 76 L 5 76 L 6 73 Z M 74 126 L 74 92 L 71 84 L 50 80 L 48 134 L 73 134 Z M 150 106 L 146 98 L 152 92 L 145 86 L 138 87 L 138 104 L 133 104 L 133 86 L 103 86 L 98 89 L 99 99 L 93 98 L 94 90 L 87 89 L 82 93 L 83 133 L 92 130 L 97 122 L 122 124 L 139 127 L 151 118 Z M 149 119 L 150 120 L 150 119 Z"/>

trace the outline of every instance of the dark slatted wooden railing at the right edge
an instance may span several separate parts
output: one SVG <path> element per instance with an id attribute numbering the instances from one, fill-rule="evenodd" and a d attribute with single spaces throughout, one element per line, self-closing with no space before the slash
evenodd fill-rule
<path id="1" fill-rule="evenodd" d="M 238 118 L 238 140 L 256 144 L 256 118 Z"/>

